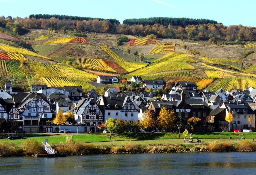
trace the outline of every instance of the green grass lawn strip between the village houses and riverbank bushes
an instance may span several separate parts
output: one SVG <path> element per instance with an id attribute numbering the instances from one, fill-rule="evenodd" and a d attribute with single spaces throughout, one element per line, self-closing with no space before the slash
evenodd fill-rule
<path id="1" fill-rule="evenodd" d="M 90 134 L 73 134 L 73 140 L 76 143 L 93 143 L 95 145 L 125 145 L 127 143 L 132 142 L 133 144 L 181 144 L 184 136 L 181 134 L 181 137 L 178 138 L 179 133 L 113 133 L 114 140 L 110 141 L 108 133 L 90 133 Z M 247 132 L 243 133 L 245 140 L 252 141 L 252 138 L 256 138 L 256 132 Z M 35 139 L 38 142 L 44 142 L 44 139 L 48 139 L 50 145 L 59 144 L 60 142 L 65 142 L 66 136 L 68 134 L 58 134 L 56 136 L 47 136 L 48 134 L 40 134 L 40 136 L 44 137 L 36 137 L 30 136 L 30 134 L 19 134 L 20 136 L 24 136 L 24 139 L 20 140 L 0 140 L 1 142 L 14 143 L 15 146 L 20 146 L 22 142 L 27 139 Z M 145 138 L 144 138 L 145 136 Z M 29 137 L 29 138 L 27 138 Z M 190 135 L 187 136 L 188 140 Z M 193 142 L 196 142 L 196 139 L 201 139 L 202 143 L 214 142 L 215 140 L 221 142 L 230 142 L 230 143 L 238 143 L 236 142 L 237 133 L 234 132 L 193 132 L 192 133 Z M 197 137 L 197 138 L 195 138 Z M 222 140 L 220 140 L 220 137 Z M 232 138 L 229 140 L 228 138 Z M 186 143 L 187 144 L 187 143 Z"/>

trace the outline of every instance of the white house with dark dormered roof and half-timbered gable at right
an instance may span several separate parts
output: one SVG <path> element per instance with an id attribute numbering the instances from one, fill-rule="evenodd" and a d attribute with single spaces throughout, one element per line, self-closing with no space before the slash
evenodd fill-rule
<path id="1" fill-rule="evenodd" d="M 100 106 L 104 111 L 104 121 L 109 118 L 124 119 L 127 121 L 138 120 L 138 107 L 129 97 L 102 96 Z"/>

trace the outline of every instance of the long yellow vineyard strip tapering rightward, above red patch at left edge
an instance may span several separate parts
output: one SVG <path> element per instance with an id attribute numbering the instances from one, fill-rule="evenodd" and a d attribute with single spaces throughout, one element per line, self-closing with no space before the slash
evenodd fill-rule
<path id="1" fill-rule="evenodd" d="M 26 50 L 26 49 L 22 49 L 22 48 L 18 48 L 18 47 L 13 47 L 13 46 L 1 45 L 0 44 L 0 48 L 3 49 L 6 52 L 20 53 L 22 55 L 30 55 L 30 56 L 33 56 L 33 57 L 40 57 L 40 58 L 45 58 L 45 59 L 51 59 L 49 57 L 45 57 L 43 55 L 39 55 L 39 54 L 34 53 L 32 51 L 29 51 L 29 50 Z"/>

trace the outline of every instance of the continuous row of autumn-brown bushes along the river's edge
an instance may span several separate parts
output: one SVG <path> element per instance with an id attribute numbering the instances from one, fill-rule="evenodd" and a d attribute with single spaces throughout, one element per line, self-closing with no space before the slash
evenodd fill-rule
<path id="1" fill-rule="evenodd" d="M 208 144 L 126 144 L 126 145 L 100 145 L 75 143 L 66 140 L 64 143 L 53 145 L 58 153 L 66 155 L 87 155 L 87 154 L 131 154 L 131 153 L 171 153 L 171 152 L 235 152 L 235 151 L 256 151 L 256 143 L 241 141 L 238 144 L 214 141 Z M 14 144 L 3 142 L 0 144 L 0 156 L 32 156 L 45 154 L 40 142 L 34 139 L 24 141 L 20 147 Z"/>

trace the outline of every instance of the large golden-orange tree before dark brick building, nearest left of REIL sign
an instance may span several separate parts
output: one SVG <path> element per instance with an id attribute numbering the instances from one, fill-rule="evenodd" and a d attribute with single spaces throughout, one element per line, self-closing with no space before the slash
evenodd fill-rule
<path id="1" fill-rule="evenodd" d="M 166 107 L 163 107 L 160 110 L 157 120 L 158 126 L 162 127 L 163 129 L 174 128 L 176 120 L 174 110 L 167 110 Z"/>

